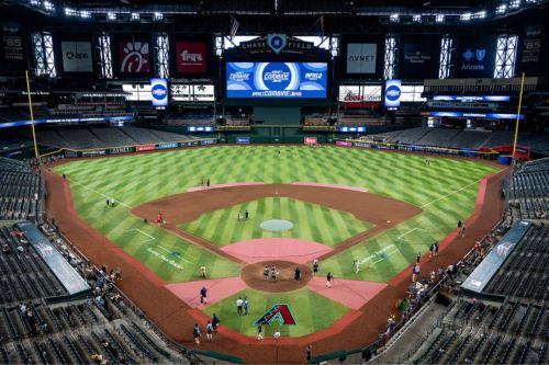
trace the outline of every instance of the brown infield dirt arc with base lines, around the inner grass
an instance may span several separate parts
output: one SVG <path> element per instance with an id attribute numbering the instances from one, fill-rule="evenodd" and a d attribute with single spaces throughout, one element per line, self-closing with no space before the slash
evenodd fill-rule
<path id="1" fill-rule="evenodd" d="M 323 205 L 329 208 L 349 212 L 354 214 L 357 219 L 376 225 L 376 227 L 367 231 L 339 242 L 334 247 L 333 251 L 324 254 L 324 256 L 322 256 L 323 259 L 344 251 L 358 242 L 373 237 L 422 213 L 422 209 L 414 205 L 371 193 L 326 186 L 293 184 L 237 185 L 226 189 L 205 189 L 191 193 L 187 192 L 145 203 L 133 208 L 132 213 L 154 224 L 158 213 L 161 212 L 165 219 L 168 221 L 164 228 L 192 243 L 200 244 L 220 255 L 235 260 L 235 256 L 228 254 L 226 250 L 221 250 L 221 248 L 212 242 L 178 228 L 177 226 L 182 223 L 193 221 L 204 213 L 256 201 L 262 197 L 291 197 Z"/>

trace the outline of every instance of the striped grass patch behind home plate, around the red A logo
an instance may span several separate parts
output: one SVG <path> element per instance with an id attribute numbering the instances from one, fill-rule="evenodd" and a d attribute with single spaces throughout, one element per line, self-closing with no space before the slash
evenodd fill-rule
<path id="1" fill-rule="evenodd" d="M 248 316 L 236 315 L 236 299 L 238 297 L 248 297 Z M 262 334 L 266 338 L 272 337 L 277 331 L 280 331 L 282 337 L 301 337 L 313 333 L 332 326 L 349 310 L 347 307 L 309 289 L 291 293 L 265 293 L 246 289 L 223 301 L 208 306 L 204 311 L 210 317 L 216 313 L 225 327 L 247 335 L 255 335 L 257 328 L 254 327 L 254 322 L 276 304 L 288 305 L 296 324 L 280 326 L 279 322 L 274 322 L 264 327 Z"/>

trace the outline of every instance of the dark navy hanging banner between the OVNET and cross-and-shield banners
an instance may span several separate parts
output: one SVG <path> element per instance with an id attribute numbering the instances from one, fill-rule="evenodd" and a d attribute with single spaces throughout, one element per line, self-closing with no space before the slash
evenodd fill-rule
<path id="1" fill-rule="evenodd" d="M 439 52 L 435 37 L 422 37 L 419 42 L 404 43 L 400 77 L 404 79 L 429 79 L 438 76 Z"/>

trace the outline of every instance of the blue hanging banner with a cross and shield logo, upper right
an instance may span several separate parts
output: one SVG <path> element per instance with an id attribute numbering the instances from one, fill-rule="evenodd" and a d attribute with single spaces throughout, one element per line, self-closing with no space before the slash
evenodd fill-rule
<path id="1" fill-rule="evenodd" d="M 495 65 L 494 37 L 462 37 L 457 54 L 457 77 L 492 78 Z"/>

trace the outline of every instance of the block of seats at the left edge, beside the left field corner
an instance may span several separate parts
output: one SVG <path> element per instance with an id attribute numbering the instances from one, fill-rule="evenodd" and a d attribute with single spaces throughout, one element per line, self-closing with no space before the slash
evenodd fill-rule
<path id="1" fill-rule="evenodd" d="M 0 220 L 40 220 L 44 212 L 41 178 L 24 163 L 0 158 Z"/>

